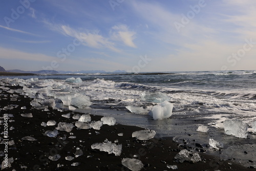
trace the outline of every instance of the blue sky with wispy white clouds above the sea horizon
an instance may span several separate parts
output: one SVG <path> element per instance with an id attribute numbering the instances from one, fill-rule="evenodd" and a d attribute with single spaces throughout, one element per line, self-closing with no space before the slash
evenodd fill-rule
<path id="1" fill-rule="evenodd" d="M 256 70 L 254 0 L 0 1 L 6 70 Z"/>

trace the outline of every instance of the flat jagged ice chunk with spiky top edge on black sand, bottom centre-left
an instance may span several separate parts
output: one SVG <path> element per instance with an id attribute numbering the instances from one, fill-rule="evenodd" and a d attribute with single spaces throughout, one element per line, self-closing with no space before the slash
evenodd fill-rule
<path id="1" fill-rule="evenodd" d="M 120 156 L 122 152 L 122 144 L 115 144 L 111 141 L 103 143 L 94 143 L 91 145 L 92 149 L 99 149 L 99 151 L 108 152 L 109 154 L 114 153 L 116 156 Z"/>

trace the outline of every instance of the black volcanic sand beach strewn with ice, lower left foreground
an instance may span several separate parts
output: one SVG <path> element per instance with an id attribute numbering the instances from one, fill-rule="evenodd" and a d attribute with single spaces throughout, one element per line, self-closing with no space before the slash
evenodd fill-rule
<path id="1" fill-rule="evenodd" d="M 17 87 L 16 87 L 17 88 Z M 21 88 L 21 87 L 20 87 Z M 14 89 L 14 87 L 11 87 Z M 31 98 L 25 98 L 23 95 L 18 96 L 17 101 L 10 101 L 12 94 L 2 91 L 0 94 L 0 116 L 4 114 L 13 114 L 13 118 L 9 118 L 9 140 L 14 140 L 15 144 L 9 146 L 8 158 L 13 157 L 14 162 L 10 168 L 4 170 L 129 170 L 122 166 L 121 160 L 123 158 L 136 158 L 142 161 L 144 168 L 141 170 L 171 170 L 167 168 L 168 165 L 177 165 L 177 170 L 252 170 L 245 168 L 231 160 L 223 161 L 218 157 L 200 153 L 203 158 L 202 162 L 198 163 L 178 163 L 174 161 L 175 155 L 182 149 L 186 148 L 184 145 L 179 145 L 174 142 L 172 138 L 158 139 L 153 138 L 148 141 L 140 141 L 132 138 L 134 131 L 143 130 L 141 127 L 126 126 L 116 124 L 115 126 L 103 125 L 99 131 L 97 130 L 78 130 L 73 128 L 74 135 L 67 132 L 59 131 L 56 138 L 45 136 L 47 130 L 53 131 L 55 126 L 41 126 L 41 122 L 55 120 L 59 122 L 75 123 L 72 119 L 76 112 L 49 109 L 50 111 L 40 111 L 33 109 L 30 105 Z M 7 105 L 17 105 L 12 110 L 3 110 Z M 26 110 L 20 109 L 26 106 Z M 20 114 L 32 113 L 32 118 L 25 118 Z M 67 119 L 61 117 L 63 114 L 72 113 L 71 118 Z M 92 116 L 92 120 L 100 120 L 102 116 Z M 2 118 L 3 120 L 3 118 Z M 0 125 L 1 131 L 4 131 L 4 126 Z M 99 133 L 97 134 L 96 131 Z M 90 134 L 89 134 L 90 133 Z M 123 136 L 118 136 L 118 133 L 123 133 Z M 67 136 L 66 140 L 61 140 L 61 137 Z M 0 135 L 3 138 L 3 134 Z M 22 140 L 25 136 L 32 136 L 37 141 Z M 76 136 L 75 139 L 68 138 L 69 136 Z M 92 149 L 91 145 L 97 142 L 103 142 L 105 139 L 114 141 L 118 139 L 118 143 L 122 144 L 122 153 L 120 156 L 108 154 L 107 152 L 100 152 L 98 149 Z M 66 156 L 75 156 L 77 147 L 82 149 L 83 155 L 75 158 L 72 161 L 65 159 Z M 200 149 L 200 147 L 198 147 Z M 188 151 L 193 149 L 187 149 Z M 4 151 L 3 142 L 0 144 L 0 151 Z M 202 150 L 203 152 L 203 150 Z M 61 158 L 57 161 L 48 159 L 49 155 L 59 154 Z M 137 155 L 134 157 L 134 155 Z M 2 162 L 4 157 L 0 157 Z M 78 166 L 71 166 L 73 162 L 79 162 Z M 60 164 L 62 167 L 57 167 Z M 23 168 L 22 168 L 23 167 Z M 27 168 L 26 168 L 27 167 Z"/>

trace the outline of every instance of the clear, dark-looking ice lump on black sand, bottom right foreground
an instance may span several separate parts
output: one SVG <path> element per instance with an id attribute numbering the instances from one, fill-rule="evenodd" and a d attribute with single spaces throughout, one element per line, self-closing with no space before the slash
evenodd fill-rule
<path id="1" fill-rule="evenodd" d="M 180 163 L 183 163 L 184 161 L 188 161 L 191 163 L 196 163 L 196 162 L 202 161 L 202 159 L 198 153 L 191 153 L 191 152 L 188 152 L 186 149 L 183 149 L 182 151 L 180 151 L 174 157 L 174 159 Z"/>

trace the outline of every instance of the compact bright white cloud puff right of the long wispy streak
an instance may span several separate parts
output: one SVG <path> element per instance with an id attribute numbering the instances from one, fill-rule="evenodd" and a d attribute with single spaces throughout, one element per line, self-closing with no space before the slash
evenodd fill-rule
<path id="1" fill-rule="evenodd" d="M 134 31 L 129 31 L 128 27 L 126 25 L 116 25 L 112 27 L 111 30 L 111 38 L 117 41 L 122 41 L 124 45 L 136 48 L 136 45 L 134 44 L 133 40 L 135 37 Z"/>

